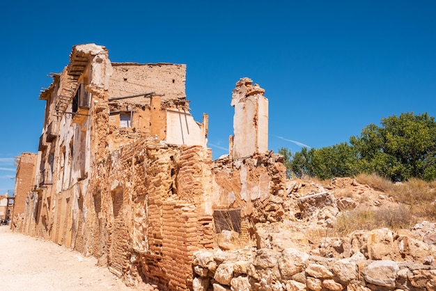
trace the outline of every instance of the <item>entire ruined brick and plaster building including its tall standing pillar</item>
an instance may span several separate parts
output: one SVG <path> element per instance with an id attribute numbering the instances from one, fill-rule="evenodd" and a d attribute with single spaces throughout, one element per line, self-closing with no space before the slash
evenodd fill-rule
<path id="1" fill-rule="evenodd" d="M 208 116 L 189 113 L 185 74 L 73 47 L 40 94 L 35 183 L 15 227 L 95 256 L 127 284 L 190 290 L 192 255 L 217 246 L 217 233 L 249 240 L 254 223 L 281 220 L 285 168 L 267 151 L 264 90 L 238 81 L 230 154 L 212 162 Z"/>

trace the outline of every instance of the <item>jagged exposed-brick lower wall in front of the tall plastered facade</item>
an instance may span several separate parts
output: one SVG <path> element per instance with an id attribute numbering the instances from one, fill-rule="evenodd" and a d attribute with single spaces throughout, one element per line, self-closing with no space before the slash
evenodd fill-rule
<path id="1" fill-rule="evenodd" d="M 87 213 L 100 265 L 126 282 L 191 289 L 192 253 L 213 241 L 204 207 L 210 164 L 202 146 L 136 141 L 111 152 L 91 180 L 98 194 Z"/>

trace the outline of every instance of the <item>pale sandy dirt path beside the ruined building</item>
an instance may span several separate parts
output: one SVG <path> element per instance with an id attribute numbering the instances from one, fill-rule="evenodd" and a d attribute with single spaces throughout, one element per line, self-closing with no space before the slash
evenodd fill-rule
<path id="1" fill-rule="evenodd" d="M 0 226 L 0 290 L 135 290 L 96 262 Z"/>

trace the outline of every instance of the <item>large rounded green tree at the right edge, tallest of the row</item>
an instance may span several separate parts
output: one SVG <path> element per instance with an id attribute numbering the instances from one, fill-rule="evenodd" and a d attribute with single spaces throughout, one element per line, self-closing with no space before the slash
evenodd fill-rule
<path id="1" fill-rule="evenodd" d="M 350 143 L 361 159 L 362 171 L 392 181 L 436 178 L 436 123 L 427 113 L 401 113 L 382 118 L 381 126 L 364 127 Z"/>

